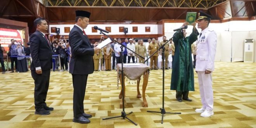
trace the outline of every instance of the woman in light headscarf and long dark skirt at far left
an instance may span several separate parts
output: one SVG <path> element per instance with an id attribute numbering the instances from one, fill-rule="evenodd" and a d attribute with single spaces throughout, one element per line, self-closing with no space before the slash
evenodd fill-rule
<path id="1" fill-rule="evenodd" d="M 18 73 L 27 72 L 28 67 L 27 67 L 27 61 L 26 61 L 26 57 L 25 57 L 24 48 L 19 43 L 17 44 L 16 54 L 18 55 L 16 70 L 18 71 Z"/>

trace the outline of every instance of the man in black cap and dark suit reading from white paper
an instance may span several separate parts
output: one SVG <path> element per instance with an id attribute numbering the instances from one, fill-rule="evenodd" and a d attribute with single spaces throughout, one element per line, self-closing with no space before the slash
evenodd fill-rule
<path id="1" fill-rule="evenodd" d="M 83 100 L 85 98 L 85 89 L 88 74 L 94 71 L 93 55 L 99 53 L 98 44 L 91 45 L 84 29 L 89 24 L 90 12 L 77 10 L 76 24 L 69 33 L 69 44 L 71 47 L 71 59 L 69 63 L 69 73 L 73 79 L 73 122 L 90 123 L 88 118 L 92 115 L 84 112 Z"/>

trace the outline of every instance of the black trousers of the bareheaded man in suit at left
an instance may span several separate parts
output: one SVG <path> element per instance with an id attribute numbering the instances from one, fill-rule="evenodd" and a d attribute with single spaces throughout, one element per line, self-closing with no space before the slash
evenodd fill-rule
<path id="1" fill-rule="evenodd" d="M 40 111 L 43 106 L 46 106 L 45 100 L 49 88 L 50 70 L 43 70 L 42 74 L 37 74 L 35 70 L 32 70 L 31 76 L 35 81 L 35 109 Z"/>

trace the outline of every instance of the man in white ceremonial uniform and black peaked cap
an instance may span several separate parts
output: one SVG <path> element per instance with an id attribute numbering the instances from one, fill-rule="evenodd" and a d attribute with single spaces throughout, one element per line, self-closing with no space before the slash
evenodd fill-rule
<path id="1" fill-rule="evenodd" d="M 197 40 L 197 55 L 195 71 L 198 75 L 198 83 L 201 95 L 202 108 L 195 109 L 202 117 L 213 115 L 213 87 L 212 72 L 214 71 L 214 58 L 216 54 L 217 35 L 209 29 L 211 16 L 199 11 L 197 27 L 202 29 Z"/>

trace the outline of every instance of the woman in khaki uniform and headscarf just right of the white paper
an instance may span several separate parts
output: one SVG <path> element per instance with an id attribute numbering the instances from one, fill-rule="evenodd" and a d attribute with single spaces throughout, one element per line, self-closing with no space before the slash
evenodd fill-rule
<path id="1" fill-rule="evenodd" d="M 107 45 L 106 47 L 103 48 L 106 71 L 111 71 L 111 53 L 112 53 L 112 51 L 113 50 L 110 47 L 110 45 Z"/>

